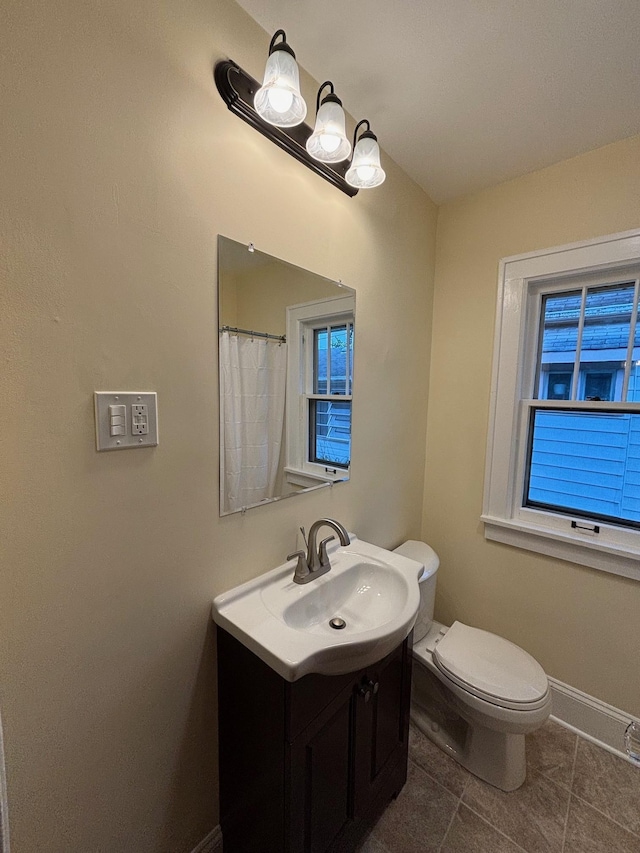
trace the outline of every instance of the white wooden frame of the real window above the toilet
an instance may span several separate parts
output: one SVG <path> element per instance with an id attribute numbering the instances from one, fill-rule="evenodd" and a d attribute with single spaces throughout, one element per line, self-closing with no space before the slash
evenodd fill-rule
<path id="1" fill-rule="evenodd" d="M 638 403 L 579 403 L 531 399 L 537 359 L 542 293 L 594 283 L 629 280 L 640 266 L 640 230 L 503 258 L 498 273 L 498 304 L 481 519 L 485 537 L 583 566 L 640 580 L 640 531 L 522 506 L 529 413 L 549 408 L 624 409 Z M 636 269 L 634 269 L 636 268 Z M 573 281 L 571 281 L 571 277 Z M 549 285 L 553 283 L 553 288 Z"/>

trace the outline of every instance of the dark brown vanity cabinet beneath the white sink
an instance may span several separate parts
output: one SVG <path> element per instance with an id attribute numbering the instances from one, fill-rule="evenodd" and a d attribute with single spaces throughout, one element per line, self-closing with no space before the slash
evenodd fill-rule
<path id="1" fill-rule="evenodd" d="M 352 853 L 407 777 L 409 638 L 290 683 L 218 628 L 225 853 Z"/>

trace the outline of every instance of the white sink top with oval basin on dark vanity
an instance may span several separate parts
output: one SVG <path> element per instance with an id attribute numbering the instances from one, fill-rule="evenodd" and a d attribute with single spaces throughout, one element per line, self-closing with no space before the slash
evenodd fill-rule
<path id="1" fill-rule="evenodd" d="M 383 658 L 418 613 L 422 565 L 353 539 L 329 546 L 331 571 L 293 582 L 295 560 L 217 596 L 213 619 L 287 681 L 340 675 Z M 332 628 L 332 619 L 345 626 Z"/>

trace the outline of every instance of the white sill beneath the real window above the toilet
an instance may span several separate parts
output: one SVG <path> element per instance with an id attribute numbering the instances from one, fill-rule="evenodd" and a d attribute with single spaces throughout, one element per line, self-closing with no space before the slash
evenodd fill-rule
<path id="1" fill-rule="evenodd" d="M 640 581 L 640 551 L 633 548 L 507 518 L 490 515 L 480 518 L 484 522 L 485 539 Z"/>

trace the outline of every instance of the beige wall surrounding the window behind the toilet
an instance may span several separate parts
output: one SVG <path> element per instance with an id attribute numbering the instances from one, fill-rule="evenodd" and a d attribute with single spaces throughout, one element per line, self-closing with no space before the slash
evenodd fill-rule
<path id="1" fill-rule="evenodd" d="M 442 621 L 502 634 L 637 715 L 640 584 L 487 542 L 480 513 L 498 261 L 639 225 L 640 137 L 440 208 L 423 520 Z"/>

